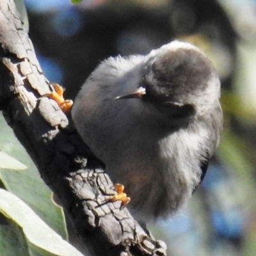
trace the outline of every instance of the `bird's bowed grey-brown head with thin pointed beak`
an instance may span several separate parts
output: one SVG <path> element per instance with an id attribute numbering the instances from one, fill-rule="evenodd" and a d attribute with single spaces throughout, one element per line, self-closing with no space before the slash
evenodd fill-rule
<path id="1" fill-rule="evenodd" d="M 145 56 L 141 83 L 117 99 L 140 98 L 172 121 L 207 115 L 220 97 L 220 81 L 211 61 L 194 45 L 174 41 Z"/>

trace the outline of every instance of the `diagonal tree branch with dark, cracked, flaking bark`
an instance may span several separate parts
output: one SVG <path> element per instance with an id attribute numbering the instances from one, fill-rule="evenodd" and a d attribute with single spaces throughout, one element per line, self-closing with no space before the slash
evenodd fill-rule
<path id="1" fill-rule="evenodd" d="M 113 195 L 108 175 L 53 100 L 12 0 L 0 1 L 0 108 L 93 255 L 166 255 Z M 77 158 L 79 157 L 79 158 Z"/>

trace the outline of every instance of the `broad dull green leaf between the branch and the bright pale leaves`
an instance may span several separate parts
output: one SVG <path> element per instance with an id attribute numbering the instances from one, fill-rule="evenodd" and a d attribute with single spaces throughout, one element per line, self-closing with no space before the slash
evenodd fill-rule
<path id="1" fill-rule="evenodd" d="M 52 191 L 41 179 L 35 164 L 15 138 L 12 129 L 6 124 L 1 113 L 0 127 L 1 151 L 28 166 L 28 169 L 23 172 L 6 172 L 0 169 L 1 182 L 3 182 L 4 188 L 15 195 L 19 195 L 19 198 L 26 202 L 42 220 L 58 232 L 61 237 L 67 238 L 63 209 L 52 203 Z"/>

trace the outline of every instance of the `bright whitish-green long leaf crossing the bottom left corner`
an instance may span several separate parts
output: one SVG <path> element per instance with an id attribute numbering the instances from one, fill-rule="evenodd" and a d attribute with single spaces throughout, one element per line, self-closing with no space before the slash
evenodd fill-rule
<path id="1" fill-rule="evenodd" d="M 22 228 L 31 243 L 47 252 L 59 256 L 83 256 L 48 227 L 20 198 L 4 189 L 0 189 L 0 211 Z"/>

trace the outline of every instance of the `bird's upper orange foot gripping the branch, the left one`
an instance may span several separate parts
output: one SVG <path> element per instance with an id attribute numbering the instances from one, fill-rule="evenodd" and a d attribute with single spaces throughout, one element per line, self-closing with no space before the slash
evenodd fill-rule
<path id="1" fill-rule="evenodd" d="M 51 84 L 54 87 L 55 91 L 53 91 L 51 93 L 46 93 L 46 94 L 44 94 L 44 96 L 55 100 L 64 112 L 69 111 L 73 105 L 73 100 L 65 100 L 64 99 L 64 97 L 63 97 L 64 89 L 63 89 L 63 87 L 60 86 L 60 84 L 56 84 L 56 83 L 51 83 Z"/>

